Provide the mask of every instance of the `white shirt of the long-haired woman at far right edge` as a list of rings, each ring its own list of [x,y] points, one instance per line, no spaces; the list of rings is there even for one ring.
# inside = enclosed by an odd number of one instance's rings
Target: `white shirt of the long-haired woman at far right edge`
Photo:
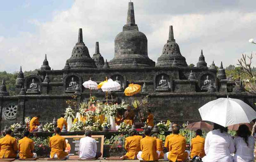
[[[234,138],[234,146],[236,153],[234,154],[234,162],[254,162],[254,137],[248,137],[248,146],[242,137]]]

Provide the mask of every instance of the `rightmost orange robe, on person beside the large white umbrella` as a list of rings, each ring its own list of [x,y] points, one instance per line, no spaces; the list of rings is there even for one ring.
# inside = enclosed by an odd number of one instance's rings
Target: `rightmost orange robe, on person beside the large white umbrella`
[[[205,139],[203,137],[200,137],[199,135],[191,140],[191,158],[193,158],[195,155],[198,155],[201,158],[205,156],[204,141]]]

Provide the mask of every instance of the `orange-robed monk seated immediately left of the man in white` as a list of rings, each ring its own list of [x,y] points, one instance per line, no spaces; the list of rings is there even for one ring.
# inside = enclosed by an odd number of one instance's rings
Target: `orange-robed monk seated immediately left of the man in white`
[[[65,152],[67,144],[64,137],[60,136],[60,128],[55,128],[55,136],[50,137],[49,146],[51,148],[50,158],[52,159],[62,159],[69,158],[67,152]]]

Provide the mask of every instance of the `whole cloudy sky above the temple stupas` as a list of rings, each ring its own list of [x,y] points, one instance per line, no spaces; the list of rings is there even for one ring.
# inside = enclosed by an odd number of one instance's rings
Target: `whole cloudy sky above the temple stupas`
[[[0,71],[41,67],[63,69],[83,29],[91,56],[99,42],[104,59],[114,57],[114,40],[126,23],[129,0],[7,0],[0,5]],[[155,62],[168,39],[169,25],[187,64],[201,49],[208,65],[236,65],[242,53],[256,53],[255,0],[132,0],[139,31]],[[256,66],[256,58],[253,66]]]

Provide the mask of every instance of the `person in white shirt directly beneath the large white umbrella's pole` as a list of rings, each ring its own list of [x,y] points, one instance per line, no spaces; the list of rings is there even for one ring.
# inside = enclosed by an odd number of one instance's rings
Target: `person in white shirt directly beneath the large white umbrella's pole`
[[[214,130],[206,136],[204,150],[203,162],[233,162],[230,154],[235,151],[234,141],[221,125],[214,123]]]

